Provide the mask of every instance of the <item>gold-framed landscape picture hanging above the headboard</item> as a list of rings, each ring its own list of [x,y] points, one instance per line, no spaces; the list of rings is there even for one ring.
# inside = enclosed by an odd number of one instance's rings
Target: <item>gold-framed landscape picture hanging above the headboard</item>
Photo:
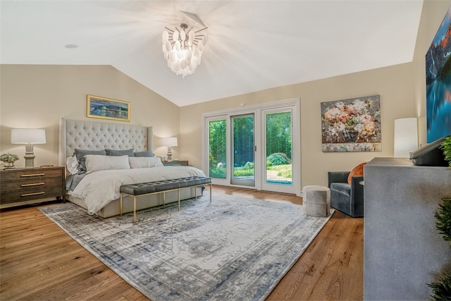
[[[87,95],[86,116],[115,121],[130,121],[130,102]]]

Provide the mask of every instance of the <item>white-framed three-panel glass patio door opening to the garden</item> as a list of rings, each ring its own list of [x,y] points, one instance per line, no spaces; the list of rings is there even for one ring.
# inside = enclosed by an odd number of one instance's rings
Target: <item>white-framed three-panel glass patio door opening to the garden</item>
[[[299,99],[204,113],[203,132],[212,183],[299,195]]]

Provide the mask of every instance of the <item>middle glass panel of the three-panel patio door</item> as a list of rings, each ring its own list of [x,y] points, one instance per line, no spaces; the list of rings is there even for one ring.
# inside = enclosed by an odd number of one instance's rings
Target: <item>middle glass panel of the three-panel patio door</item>
[[[232,116],[232,179],[235,185],[255,186],[254,114]]]

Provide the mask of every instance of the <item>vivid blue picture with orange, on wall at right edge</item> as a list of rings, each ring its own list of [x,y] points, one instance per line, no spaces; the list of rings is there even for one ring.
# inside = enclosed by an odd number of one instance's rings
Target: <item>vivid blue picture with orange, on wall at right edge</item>
[[[426,135],[451,135],[451,7],[426,53]]]

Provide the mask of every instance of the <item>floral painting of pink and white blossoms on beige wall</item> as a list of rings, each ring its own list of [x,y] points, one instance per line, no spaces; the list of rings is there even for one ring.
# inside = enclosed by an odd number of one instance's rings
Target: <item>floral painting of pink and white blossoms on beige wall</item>
[[[323,152],[380,152],[379,95],[321,102]]]

